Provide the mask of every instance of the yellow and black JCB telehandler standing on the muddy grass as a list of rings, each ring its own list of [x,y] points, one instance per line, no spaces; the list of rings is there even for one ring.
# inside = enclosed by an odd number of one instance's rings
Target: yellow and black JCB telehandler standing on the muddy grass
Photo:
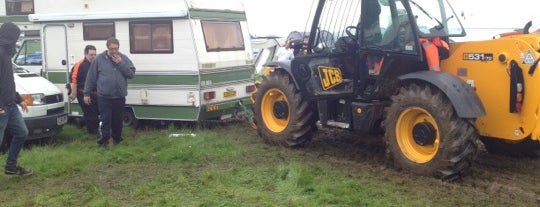
[[[451,43],[433,71],[425,40],[465,36],[447,0],[313,7],[307,44],[292,61],[266,64],[252,95],[265,142],[301,146],[317,126],[384,131],[396,169],[443,180],[468,172],[480,141],[489,152],[537,150],[540,35]]]

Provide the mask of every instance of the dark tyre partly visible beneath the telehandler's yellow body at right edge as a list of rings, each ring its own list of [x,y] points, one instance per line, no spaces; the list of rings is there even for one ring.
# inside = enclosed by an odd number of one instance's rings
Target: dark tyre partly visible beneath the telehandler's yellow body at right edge
[[[521,142],[509,142],[493,137],[481,137],[486,150],[490,154],[512,157],[540,157],[540,144],[530,139]]]

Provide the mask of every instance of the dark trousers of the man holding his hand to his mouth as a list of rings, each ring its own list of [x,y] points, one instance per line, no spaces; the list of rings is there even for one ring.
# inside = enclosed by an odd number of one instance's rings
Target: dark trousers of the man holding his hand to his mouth
[[[109,138],[119,143],[122,141],[122,127],[126,98],[97,97],[99,119],[101,121],[101,138],[98,144],[107,145]]]

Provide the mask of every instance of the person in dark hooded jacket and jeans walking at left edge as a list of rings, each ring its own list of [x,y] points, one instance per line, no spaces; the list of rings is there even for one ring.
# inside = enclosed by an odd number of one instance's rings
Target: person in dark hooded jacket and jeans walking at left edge
[[[5,131],[13,136],[4,169],[6,175],[32,174],[32,170],[17,165],[19,152],[26,136],[28,136],[28,129],[17,104],[26,112],[28,112],[28,107],[15,91],[11,63],[11,57],[16,53],[15,44],[20,34],[21,30],[13,23],[4,23],[0,26],[0,143],[4,138]]]

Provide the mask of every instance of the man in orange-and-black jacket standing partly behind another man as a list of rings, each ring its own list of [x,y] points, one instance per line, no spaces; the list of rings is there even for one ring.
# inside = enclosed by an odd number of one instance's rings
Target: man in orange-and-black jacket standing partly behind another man
[[[84,59],[79,60],[71,69],[71,94],[69,99],[71,101],[77,99],[81,109],[83,111],[84,122],[86,123],[86,129],[90,134],[97,134],[99,127],[99,111],[97,101],[86,104],[84,102],[84,83],[86,82],[86,75],[90,64],[96,59],[96,47],[93,45],[86,45],[84,48]],[[96,92],[93,91],[90,96],[96,100]]]

